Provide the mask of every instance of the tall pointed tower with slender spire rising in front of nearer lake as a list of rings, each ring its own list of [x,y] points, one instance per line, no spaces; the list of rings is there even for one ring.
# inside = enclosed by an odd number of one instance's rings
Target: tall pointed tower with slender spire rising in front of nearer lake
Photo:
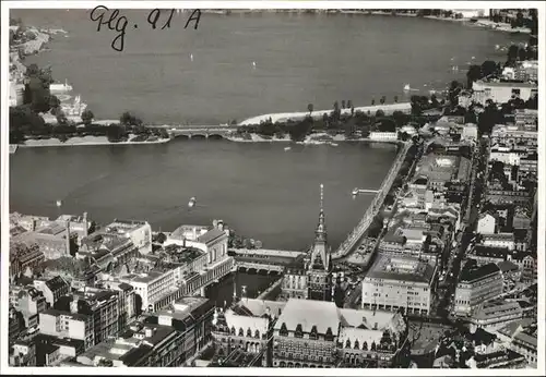
[[[324,185],[320,185],[319,223],[314,231],[314,242],[310,250],[307,266],[308,297],[310,300],[332,301],[332,256],[328,245],[324,217]]]

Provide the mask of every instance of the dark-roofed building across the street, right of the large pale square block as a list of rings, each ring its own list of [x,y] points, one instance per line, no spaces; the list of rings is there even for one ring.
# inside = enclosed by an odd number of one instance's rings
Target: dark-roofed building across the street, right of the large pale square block
[[[455,289],[454,313],[470,316],[484,302],[502,294],[502,273],[496,264],[476,266],[467,263]]]

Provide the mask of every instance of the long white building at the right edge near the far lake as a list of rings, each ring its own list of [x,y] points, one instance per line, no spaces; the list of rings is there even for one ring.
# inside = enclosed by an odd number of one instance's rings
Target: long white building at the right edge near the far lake
[[[492,81],[474,82],[472,89],[474,90],[474,100],[483,106],[487,105],[489,99],[497,104],[506,104],[514,97],[526,101],[538,92],[536,83]]]

